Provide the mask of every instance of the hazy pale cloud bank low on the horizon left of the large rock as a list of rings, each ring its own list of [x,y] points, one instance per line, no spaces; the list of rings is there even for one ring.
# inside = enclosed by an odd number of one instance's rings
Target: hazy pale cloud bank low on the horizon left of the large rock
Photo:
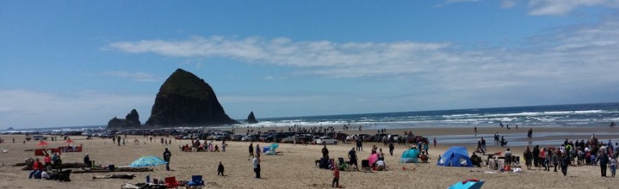
[[[144,122],[155,97],[110,95],[101,92],[54,94],[30,90],[0,90],[0,128],[105,125],[133,108]]]

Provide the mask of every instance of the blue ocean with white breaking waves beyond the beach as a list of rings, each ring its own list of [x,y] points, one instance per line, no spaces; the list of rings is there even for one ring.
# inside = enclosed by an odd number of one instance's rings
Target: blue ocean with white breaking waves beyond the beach
[[[241,121],[241,120],[239,120]],[[476,108],[420,112],[391,112],[375,114],[343,114],[330,116],[300,116],[258,118],[260,123],[235,127],[269,126],[375,126],[373,129],[409,127],[596,127],[619,122],[619,103],[589,103],[572,105],[539,105],[508,108]],[[242,122],[242,121],[241,121]],[[105,125],[16,129],[15,131],[70,131],[103,129]],[[226,126],[230,127],[230,126]],[[336,127],[341,129],[341,127]]]

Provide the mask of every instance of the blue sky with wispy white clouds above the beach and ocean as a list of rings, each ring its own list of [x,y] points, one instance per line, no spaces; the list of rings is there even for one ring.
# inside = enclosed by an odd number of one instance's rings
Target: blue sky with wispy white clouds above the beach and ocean
[[[0,1],[0,129],[106,125],[183,68],[237,119],[619,101],[619,1]]]

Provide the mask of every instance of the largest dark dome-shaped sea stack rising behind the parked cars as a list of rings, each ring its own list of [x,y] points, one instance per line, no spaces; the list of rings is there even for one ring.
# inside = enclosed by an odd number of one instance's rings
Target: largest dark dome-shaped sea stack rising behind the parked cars
[[[177,69],[161,86],[146,125],[184,127],[237,124],[221,107],[213,88],[199,77]]]

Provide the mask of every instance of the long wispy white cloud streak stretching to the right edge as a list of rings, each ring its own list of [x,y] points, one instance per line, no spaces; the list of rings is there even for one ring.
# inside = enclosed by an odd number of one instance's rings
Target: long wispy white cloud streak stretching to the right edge
[[[558,29],[520,48],[469,49],[447,42],[331,42],[195,36],[113,42],[128,53],[232,58],[299,67],[293,75],[393,77],[433,88],[518,88],[619,81],[619,21]],[[545,40],[545,42],[544,42]],[[583,77],[576,77],[583,76]],[[585,77],[586,76],[586,77]]]

